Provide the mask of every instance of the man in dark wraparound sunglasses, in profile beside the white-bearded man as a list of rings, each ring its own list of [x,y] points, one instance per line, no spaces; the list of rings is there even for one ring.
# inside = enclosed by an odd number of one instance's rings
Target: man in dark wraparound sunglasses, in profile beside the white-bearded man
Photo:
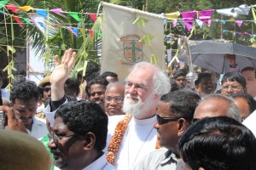
[[[189,127],[200,99],[198,94],[189,89],[174,91],[160,98],[154,128],[157,129],[160,145],[165,148],[144,156],[132,169],[176,168],[180,158],[177,151],[178,139]]]

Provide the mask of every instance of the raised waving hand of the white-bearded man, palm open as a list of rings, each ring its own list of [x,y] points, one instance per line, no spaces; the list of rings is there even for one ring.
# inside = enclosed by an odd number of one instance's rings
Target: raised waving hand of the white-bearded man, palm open
[[[51,73],[49,79],[51,83],[52,101],[57,101],[63,98],[65,94],[64,84],[73,68],[75,59],[76,53],[72,51],[72,48],[65,51],[61,63],[59,56],[55,55],[55,69]]]

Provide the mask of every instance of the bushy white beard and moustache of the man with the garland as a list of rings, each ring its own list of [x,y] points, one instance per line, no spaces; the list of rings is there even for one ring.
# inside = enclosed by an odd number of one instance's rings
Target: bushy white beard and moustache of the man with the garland
[[[138,96],[136,99],[138,99],[137,102],[134,102],[128,98],[131,98],[131,94],[126,94],[124,99],[124,105],[123,105],[123,111],[127,115],[131,116],[144,116],[147,115],[148,111],[151,110],[151,106],[154,102],[154,94],[150,94],[144,101]],[[135,97],[132,97],[133,99]]]

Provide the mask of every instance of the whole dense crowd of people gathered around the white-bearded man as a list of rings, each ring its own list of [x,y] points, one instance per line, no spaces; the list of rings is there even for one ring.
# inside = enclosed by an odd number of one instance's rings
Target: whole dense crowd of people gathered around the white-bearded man
[[[75,59],[70,48],[38,85],[17,76],[1,90],[1,169],[16,168],[14,160],[45,170],[256,169],[255,68],[221,78],[201,69],[191,89],[186,68],[168,77],[148,62],[124,83],[93,63],[70,78]]]

